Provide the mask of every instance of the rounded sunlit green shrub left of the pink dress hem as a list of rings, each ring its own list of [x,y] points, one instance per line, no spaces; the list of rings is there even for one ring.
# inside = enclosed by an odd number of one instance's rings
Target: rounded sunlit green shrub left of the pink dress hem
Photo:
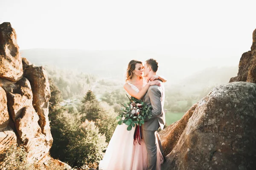
[[[94,122],[88,120],[70,134],[69,139],[66,151],[68,162],[78,167],[84,164],[98,164],[103,157],[102,150],[107,146],[105,136],[99,133],[99,128]]]

